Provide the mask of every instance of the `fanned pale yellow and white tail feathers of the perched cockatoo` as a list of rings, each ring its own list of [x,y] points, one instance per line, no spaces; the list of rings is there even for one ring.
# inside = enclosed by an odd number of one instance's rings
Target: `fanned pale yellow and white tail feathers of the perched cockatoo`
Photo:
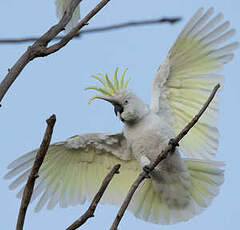
[[[184,202],[179,204],[177,199],[174,204],[163,199],[162,191],[156,191],[152,180],[146,180],[136,191],[129,206],[130,211],[136,217],[156,224],[187,221],[204,211],[219,193],[219,187],[224,181],[224,171],[221,169],[224,163],[185,159],[184,164],[190,175],[190,186],[184,186],[185,178],[170,186],[165,184],[164,189],[168,189],[171,198],[174,199],[179,194],[179,188],[185,188],[189,194],[185,205]]]

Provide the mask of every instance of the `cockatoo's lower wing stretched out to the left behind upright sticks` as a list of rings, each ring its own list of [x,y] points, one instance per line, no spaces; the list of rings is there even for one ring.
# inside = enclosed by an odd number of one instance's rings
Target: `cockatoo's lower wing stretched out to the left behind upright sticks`
[[[8,168],[6,179],[14,179],[9,185],[15,189],[25,185],[37,150],[27,153]],[[121,204],[131,183],[140,172],[138,163],[131,159],[126,140],[119,134],[85,134],[52,144],[39,171],[32,201],[40,197],[35,211],[44,205],[48,209],[57,204],[61,207],[91,200],[100,188],[101,182],[111,168],[121,164],[121,173],[111,181],[102,202]],[[21,197],[24,186],[17,194]]]

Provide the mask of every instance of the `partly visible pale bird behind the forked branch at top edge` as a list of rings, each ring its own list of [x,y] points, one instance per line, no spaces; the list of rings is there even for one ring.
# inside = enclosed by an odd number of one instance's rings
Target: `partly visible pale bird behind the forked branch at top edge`
[[[62,18],[64,12],[69,7],[69,4],[71,3],[71,1],[72,0],[55,0],[56,14],[59,20]],[[74,26],[76,26],[79,19],[80,19],[80,7],[78,5],[75,11],[73,12],[73,16],[70,22],[67,24],[65,28],[65,32],[66,33],[69,32]]]

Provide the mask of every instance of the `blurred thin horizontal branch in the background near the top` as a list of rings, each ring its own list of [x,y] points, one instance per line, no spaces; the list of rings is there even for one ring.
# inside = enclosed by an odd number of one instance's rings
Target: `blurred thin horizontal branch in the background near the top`
[[[161,23],[170,23],[174,24],[176,22],[179,22],[181,20],[180,17],[164,17],[160,19],[150,19],[150,20],[142,20],[142,21],[131,21],[131,22],[124,22],[124,23],[119,23],[115,25],[110,25],[110,26],[102,26],[102,27],[96,27],[96,28],[91,28],[91,29],[86,29],[82,30],[80,33],[77,33],[74,35],[73,38],[80,38],[83,34],[88,34],[88,33],[97,33],[97,32],[105,32],[105,31],[112,31],[112,30],[118,30],[118,29],[123,29],[126,27],[136,27],[136,26],[145,26],[145,25],[153,25],[153,24],[161,24]],[[53,40],[61,40],[63,39],[64,36],[57,36]],[[29,37],[29,38],[5,38],[5,39],[0,39],[0,44],[22,44],[26,42],[34,42],[39,37]]]

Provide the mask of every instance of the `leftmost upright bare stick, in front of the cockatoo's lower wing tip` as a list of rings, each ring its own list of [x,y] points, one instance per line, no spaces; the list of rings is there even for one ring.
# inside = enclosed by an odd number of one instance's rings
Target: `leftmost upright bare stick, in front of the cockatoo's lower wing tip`
[[[47,128],[42,140],[42,143],[40,145],[40,148],[37,152],[37,155],[34,160],[34,164],[31,170],[31,173],[28,177],[26,186],[24,188],[23,197],[21,201],[21,206],[19,209],[18,214],[18,220],[17,220],[17,226],[16,230],[22,230],[24,225],[24,220],[28,208],[28,204],[31,200],[31,196],[33,193],[34,183],[36,178],[38,177],[38,170],[41,167],[44,157],[46,155],[46,152],[48,150],[49,143],[51,141],[52,133],[53,133],[53,127],[56,122],[56,116],[52,115],[49,119],[46,120],[47,122]]]

